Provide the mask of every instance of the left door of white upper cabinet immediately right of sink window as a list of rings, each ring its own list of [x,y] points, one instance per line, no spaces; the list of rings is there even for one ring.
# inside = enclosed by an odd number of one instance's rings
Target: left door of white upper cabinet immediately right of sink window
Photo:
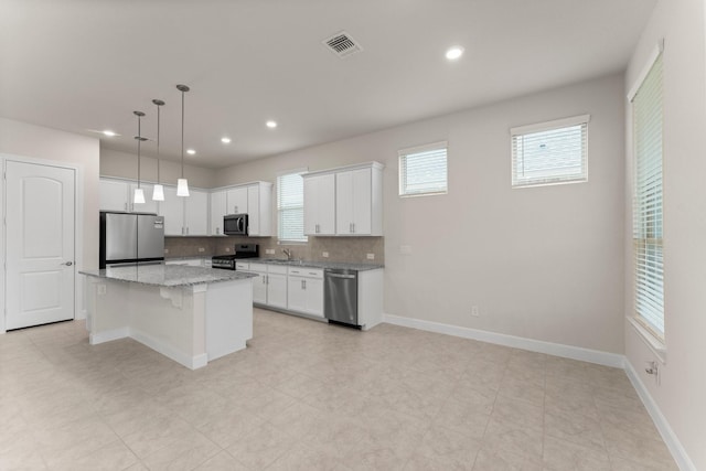
[[[335,174],[304,176],[304,234],[335,235]]]

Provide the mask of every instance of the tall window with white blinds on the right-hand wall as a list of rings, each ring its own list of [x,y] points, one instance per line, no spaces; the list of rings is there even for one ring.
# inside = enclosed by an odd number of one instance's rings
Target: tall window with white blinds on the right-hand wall
[[[635,314],[664,338],[662,255],[662,54],[632,97]]]

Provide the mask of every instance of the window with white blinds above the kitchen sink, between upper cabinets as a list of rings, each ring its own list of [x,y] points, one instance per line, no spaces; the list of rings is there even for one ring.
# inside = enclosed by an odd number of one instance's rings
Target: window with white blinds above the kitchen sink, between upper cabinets
[[[277,176],[278,238],[286,242],[307,242],[304,235],[304,170]]]

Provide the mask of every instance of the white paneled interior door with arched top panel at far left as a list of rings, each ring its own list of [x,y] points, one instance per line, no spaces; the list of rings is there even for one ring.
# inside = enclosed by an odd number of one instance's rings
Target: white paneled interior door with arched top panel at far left
[[[7,162],[6,329],[74,319],[75,171]]]

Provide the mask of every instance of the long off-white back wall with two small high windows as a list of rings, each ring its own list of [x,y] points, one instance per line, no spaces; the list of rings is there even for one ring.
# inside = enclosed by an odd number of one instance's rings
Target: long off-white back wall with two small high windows
[[[223,169],[215,184],[377,160],[386,313],[622,354],[623,103],[614,75]],[[512,190],[509,129],[581,114],[589,182]],[[440,140],[449,193],[399,199],[397,150]]]

